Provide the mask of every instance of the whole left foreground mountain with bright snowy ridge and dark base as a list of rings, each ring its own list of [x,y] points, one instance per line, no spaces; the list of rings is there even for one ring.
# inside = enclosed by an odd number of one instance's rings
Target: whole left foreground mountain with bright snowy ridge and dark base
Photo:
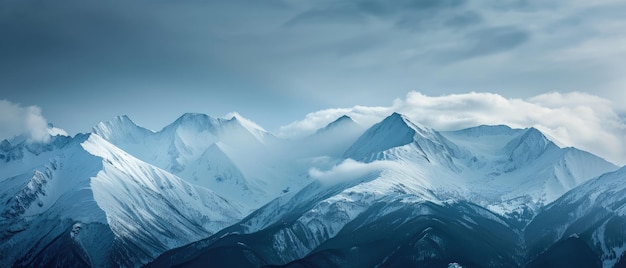
[[[6,149],[0,266],[138,266],[242,216],[95,134]]]

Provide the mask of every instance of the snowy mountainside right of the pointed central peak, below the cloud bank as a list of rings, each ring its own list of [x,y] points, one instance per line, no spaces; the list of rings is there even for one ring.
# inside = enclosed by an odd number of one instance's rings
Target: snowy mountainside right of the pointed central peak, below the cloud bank
[[[559,148],[534,128],[479,126],[442,133],[471,152],[456,160],[468,199],[527,222],[581,183],[617,167],[575,148]]]

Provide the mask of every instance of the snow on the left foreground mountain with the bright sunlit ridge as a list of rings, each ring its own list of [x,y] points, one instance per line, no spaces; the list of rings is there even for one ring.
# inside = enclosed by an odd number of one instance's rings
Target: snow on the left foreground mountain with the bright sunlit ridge
[[[77,136],[40,155],[24,151],[20,160],[32,164],[20,171],[23,174],[1,181],[0,196],[7,199],[0,201],[12,205],[2,212],[0,224],[25,228],[3,238],[0,251],[10,247],[14,250],[0,261],[1,266],[15,261],[15,254],[36,254],[47,245],[50,241],[38,241],[49,236],[38,233],[56,228],[45,227],[49,221],[74,222],[68,234],[75,239],[80,237],[80,247],[92,256],[95,265],[101,261],[97,256],[107,256],[106,252],[113,249],[89,244],[105,239],[101,232],[79,231],[93,224],[109,226],[115,239],[140,249],[128,253],[129,262],[140,264],[243,217],[235,204],[144,163],[95,134]],[[40,164],[31,167],[36,162]],[[28,224],[19,227],[20,221],[13,220],[16,218]],[[49,233],[63,232],[62,225],[59,227]],[[91,237],[94,235],[101,239]],[[90,251],[94,249],[103,252]]]

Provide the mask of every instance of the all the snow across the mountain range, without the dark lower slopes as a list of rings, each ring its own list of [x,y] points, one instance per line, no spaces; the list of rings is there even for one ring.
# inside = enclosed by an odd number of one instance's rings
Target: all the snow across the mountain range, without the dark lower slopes
[[[280,140],[236,113],[184,114],[160,131],[119,116],[99,123],[93,134],[50,133],[61,135],[49,144],[0,145],[0,156],[10,160],[0,161],[0,201],[8,204],[3,215],[31,221],[35,227],[10,227],[34,234],[41,217],[67,220],[72,238],[94,262],[102,256],[94,251],[105,250],[96,250],[94,233],[85,231],[95,223],[140,248],[134,258],[144,263],[250,214],[239,223],[244,233],[286,223],[273,234],[274,248],[302,257],[373,204],[385,206],[366,222],[400,205],[468,201],[493,212],[473,213],[507,225],[499,216],[529,221],[572,189],[568,200],[589,198],[605,207],[619,201],[609,193],[625,189],[619,176],[591,180],[616,166],[560,148],[537,129],[438,132],[397,113],[365,131],[340,117],[296,140]],[[626,207],[615,210],[624,215]],[[414,213],[429,211],[416,206]],[[461,223],[476,224],[467,216]],[[19,239],[24,236],[3,241],[4,247]],[[25,241],[23,252],[35,243]]]

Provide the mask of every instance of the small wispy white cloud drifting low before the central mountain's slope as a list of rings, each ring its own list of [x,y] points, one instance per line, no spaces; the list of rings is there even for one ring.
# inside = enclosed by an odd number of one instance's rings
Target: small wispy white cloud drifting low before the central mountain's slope
[[[309,170],[309,175],[322,183],[335,184],[360,179],[364,176],[381,172],[385,169],[394,169],[397,166],[397,163],[391,161],[362,163],[352,159],[346,159],[340,164],[332,167],[330,170],[322,171],[317,168],[312,168]]]

